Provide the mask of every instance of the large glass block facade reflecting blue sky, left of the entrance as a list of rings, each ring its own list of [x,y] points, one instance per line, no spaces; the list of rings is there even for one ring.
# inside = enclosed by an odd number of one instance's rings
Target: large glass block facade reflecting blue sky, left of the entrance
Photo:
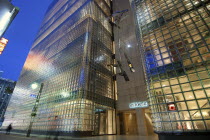
[[[110,0],[54,0],[30,50],[4,127],[26,133],[115,134],[115,81]],[[36,83],[37,88],[31,85]],[[55,119],[56,118],[56,119]]]

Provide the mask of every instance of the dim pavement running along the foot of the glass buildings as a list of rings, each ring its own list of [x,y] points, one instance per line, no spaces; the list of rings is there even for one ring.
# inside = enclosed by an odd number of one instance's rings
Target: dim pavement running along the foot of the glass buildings
[[[20,135],[5,135],[0,134],[0,140],[44,140],[44,137],[24,137]],[[155,136],[96,136],[96,137],[86,137],[86,138],[73,138],[73,137],[61,137],[59,140],[158,140]]]

